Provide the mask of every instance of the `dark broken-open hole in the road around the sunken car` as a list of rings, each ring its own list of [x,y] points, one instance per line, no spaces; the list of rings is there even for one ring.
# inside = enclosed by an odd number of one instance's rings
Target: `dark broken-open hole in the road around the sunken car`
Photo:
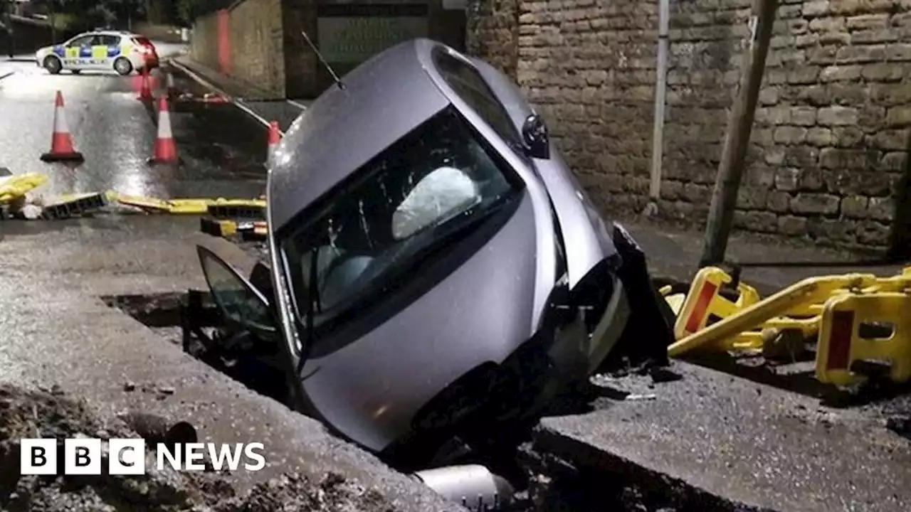
[[[262,351],[256,352],[255,342],[251,346],[251,343],[247,343],[249,340],[243,339],[242,333],[228,333],[220,326],[220,315],[210,300],[209,292],[117,295],[104,296],[101,299],[109,307],[127,313],[159,333],[166,340],[165,343],[183,345],[188,353],[200,361],[227,374],[251,390],[286,403],[284,375],[274,369],[281,366],[269,368],[268,364],[252,361],[262,359]],[[191,302],[193,305],[190,305]],[[191,324],[196,325],[205,337],[214,343],[223,345],[219,350],[213,350],[212,346],[203,346],[205,343],[199,342],[187,346],[182,327],[188,325],[189,312],[194,312],[198,316]],[[226,349],[226,346],[229,348]],[[576,390],[570,394],[584,392]],[[603,394],[601,396],[603,397]],[[578,398],[585,402],[593,399],[593,395]],[[556,408],[559,409],[559,406]],[[698,492],[694,489],[687,490],[688,487],[683,484],[670,482],[663,476],[643,476],[629,468],[618,468],[612,463],[599,465],[585,461],[584,467],[573,466],[561,462],[557,456],[549,453],[546,443],[541,444],[538,435],[529,437],[530,440],[526,440],[518,449],[509,448],[504,449],[502,453],[469,456],[451,461],[449,464],[481,463],[497,474],[506,476],[517,489],[515,501],[502,508],[509,512],[701,512],[705,509],[701,507],[705,502],[701,497],[697,497]]]

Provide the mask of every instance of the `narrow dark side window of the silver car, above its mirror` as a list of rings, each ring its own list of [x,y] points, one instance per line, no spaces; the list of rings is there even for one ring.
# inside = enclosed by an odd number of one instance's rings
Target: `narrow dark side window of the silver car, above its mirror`
[[[497,135],[522,155],[522,139],[516,125],[509,118],[506,107],[496,99],[496,95],[475,67],[441,48],[435,50],[434,61],[440,75],[446,84],[455,90],[455,94],[473,108]]]

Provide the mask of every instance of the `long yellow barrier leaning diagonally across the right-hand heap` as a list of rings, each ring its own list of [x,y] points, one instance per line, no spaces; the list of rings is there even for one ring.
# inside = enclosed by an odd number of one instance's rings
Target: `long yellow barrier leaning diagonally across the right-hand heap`
[[[763,324],[767,324],[769,321],[785,314],[793,314],[793,312],[800,312],[801,310],[808,311],[810,310],[809,306],[827,301],[835,292],[841,294],[849,290],[862,290],[875,285],[884,285],[884,283],[887,285],[891,281],[894,280],[892,278],[877,278],[874,274],[861,273],[808,278],[794,283],[762,301],[748,305],[736,314],[712,323],[695,333],[686,335],[668,347],[668,355],[672,357],[679,356],[682,353],[690,352],[712,343],[722,343],[723,340],[732,339],[748,331],[760,329]],[[703,282],[705,281],[703,280]],[[695,288],[697,283],[694,282],[693,284]],[[709,303],[711,304],[711,302]],[[708,310],[707,307],[705,309]],[[705,314],[704,316],[708,315]],[[684,315],[681,314],[680,318],[684,318]],[[678,319],[678,323],[680,322],[681,320]],[[700,323],[704,325],[701,319]],[[812,319],[807,320],[807,323],[812,323]]]

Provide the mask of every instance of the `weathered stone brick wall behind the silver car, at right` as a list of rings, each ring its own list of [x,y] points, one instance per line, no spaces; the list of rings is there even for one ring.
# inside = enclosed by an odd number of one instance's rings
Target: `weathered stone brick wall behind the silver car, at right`
[[[469,50],[509,70],[608,212],[648,201],[654,0],[485,0]],[[517,22],[510,12],[517,3]],[[750,0],[671,0],[660,214],[701,223]],[[479,19],[478,19],[479,18]],[[518,34],[515,46],[510,41]],[[781,0],[736,226],[885,245],[911,125],[911,1]]]

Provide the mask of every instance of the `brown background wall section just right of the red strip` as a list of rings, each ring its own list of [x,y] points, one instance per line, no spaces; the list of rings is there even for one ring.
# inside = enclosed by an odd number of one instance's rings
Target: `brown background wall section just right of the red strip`
[[[267,97],[285,97],[281,0],[247,0],[230,11],[231,75]]]

